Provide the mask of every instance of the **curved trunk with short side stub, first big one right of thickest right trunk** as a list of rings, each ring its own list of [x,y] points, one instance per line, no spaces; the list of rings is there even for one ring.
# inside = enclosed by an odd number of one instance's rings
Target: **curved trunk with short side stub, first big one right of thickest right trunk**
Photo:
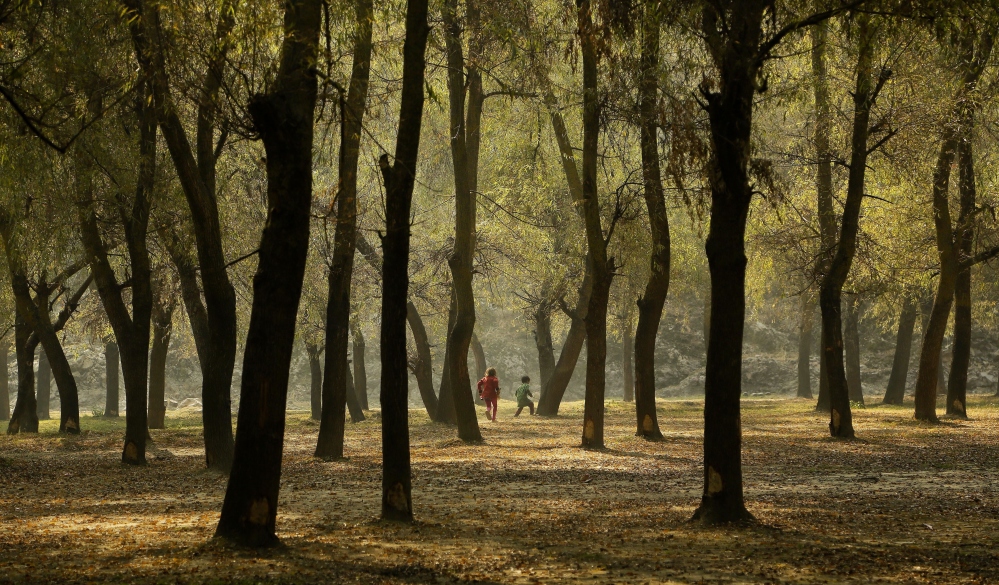
[[[822,308],[822,352],[826,359],[826,377],[829,384],[829,432],[833,437],[852,438],[853,416],[850,411],[850,393],[847,386],[843,357],[843,285],[850,275],[853,257],[857,251],[857,233],[860,229],[860,209],[864,201],[869,154],[871,108],[878,91],[887,80],[886,71],[875,86],[873,78],[874,28],[865,14],[855,19],[857,26],[856,89],[853,93],[853,133],[850,142],[850,175],[847,180],[846,202],[835,253],[822,279],[819,306]]]

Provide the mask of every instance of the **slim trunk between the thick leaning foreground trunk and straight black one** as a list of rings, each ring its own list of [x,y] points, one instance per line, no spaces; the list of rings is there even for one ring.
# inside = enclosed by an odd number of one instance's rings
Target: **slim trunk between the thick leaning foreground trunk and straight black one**
[[[368,99],[371,69],[372,0],[356,0],[354,63],[347,96],[340,96],[339,190],[336,196],[336,232],[329,272],[326,304],[326,374],[323,376],[323,420],[319,425],[316,457],[343,458],[344,410],[347,403],[347,336],[350,331],[350,282],[354,274],[354,242],[357,236],[357,160],[364,132],[364,108]],[[360,408],[351,418],[364,419]]]

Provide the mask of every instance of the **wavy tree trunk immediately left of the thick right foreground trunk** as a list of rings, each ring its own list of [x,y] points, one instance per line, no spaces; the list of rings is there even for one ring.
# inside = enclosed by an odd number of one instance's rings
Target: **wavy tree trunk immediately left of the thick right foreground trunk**
[[[637,434],[662,439],[656,415],[656,337],[669,293],[671,242],[666,196],[659,168],[659,3],[647,3],[642,21],[642,57],[639,81],[641,110],[642,178],[649,211],[652,250],[649,280],[638,300],[635,330],[635,415]],[[629,391],[630,393],[630,391]]]

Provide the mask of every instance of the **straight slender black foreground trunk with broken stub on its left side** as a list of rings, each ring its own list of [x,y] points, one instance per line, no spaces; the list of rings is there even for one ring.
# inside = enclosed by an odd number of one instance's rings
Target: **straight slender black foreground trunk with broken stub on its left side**
[[[408,0],[403,44],[402,96],[395,165],[379,161],[385,177],[385,237],[382,239],[381,404],[382,518],[413,519],[406,375],[406,306],[409,296],[409,219],[423,118],[427,0]]]

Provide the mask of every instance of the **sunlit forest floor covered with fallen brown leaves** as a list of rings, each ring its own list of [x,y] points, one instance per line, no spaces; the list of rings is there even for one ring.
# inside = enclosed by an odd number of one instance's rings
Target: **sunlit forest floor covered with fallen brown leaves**
[[[380,511],[377,413],[350,458],[312,457],[291,413],[278,535],[249,551],[211,539],[226,479],[203,469],[200,416],[154,430],[150,462],[119,463],[124,420],[55,421],[0,437],[0,582],[24,583],[999,583],[999,399],[970,421],[855,412],[826,436],[813,403],[743,401],[743,466],[758,524],[688,522],[701,493],[701,401],[660,401],[666,440],[607,405],[607,449],[585,451],[582,405],[555,419],[480,421],[486,443],[412,411],[413,525]],[[174,414],[174,413],[171,413]]]

